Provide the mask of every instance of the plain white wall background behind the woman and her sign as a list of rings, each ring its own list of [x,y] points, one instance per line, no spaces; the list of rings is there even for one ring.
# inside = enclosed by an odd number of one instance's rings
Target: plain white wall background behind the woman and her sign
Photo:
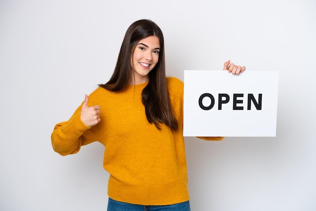
[[[278,70],[277,137],[186,138],[191,208],[316,209],[316,3],[297,1],[0,1],[0,209],[106,210],[103,147],[60,156],[50,144],[112,75],[127,27],[163,30],[168,75],[231,59]]]

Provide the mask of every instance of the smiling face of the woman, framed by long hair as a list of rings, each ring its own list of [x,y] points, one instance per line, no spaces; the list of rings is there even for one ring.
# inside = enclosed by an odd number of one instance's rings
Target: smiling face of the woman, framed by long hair
[[[159,51],[160,43],[157,36],[149,36],[138,41],[132,57],[130,84],[140,84],[148,81],[149,72],[159,60]]]

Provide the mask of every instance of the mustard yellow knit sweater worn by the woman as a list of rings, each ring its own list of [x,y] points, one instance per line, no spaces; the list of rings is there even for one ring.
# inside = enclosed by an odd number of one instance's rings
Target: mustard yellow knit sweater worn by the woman
[[[89,96],[89,106],[100,105],[101,122],[91,128],[85,126],[80,119],[81,104],[67,122],[55,126],[52,147],[67,155],[93,141],[102,143],[105,146],[103,167],[110,173],[108,195],[112,199],[143,205],[187,201],[183,82],[167,78],[173,112],[179,122],[176,132],[166,125],[158,130],[148,123],[141,101],[146,85],[130,85],[119,93],[97,88]]]

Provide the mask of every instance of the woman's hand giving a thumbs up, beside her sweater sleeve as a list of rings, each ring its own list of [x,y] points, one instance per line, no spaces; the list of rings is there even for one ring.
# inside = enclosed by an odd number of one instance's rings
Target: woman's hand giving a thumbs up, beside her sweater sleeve
[[[85,95],[84,97],[84,102],[80,112],[80,119],[86,126],[92,127],[101,121],[100,106],[93,105],[88,107],[89,97],[88,95]]]

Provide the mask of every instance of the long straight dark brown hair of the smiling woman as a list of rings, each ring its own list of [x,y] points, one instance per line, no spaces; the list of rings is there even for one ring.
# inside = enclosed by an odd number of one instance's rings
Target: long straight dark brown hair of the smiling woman
[[[149,123],[153,123],[158,129],[159,125],[164,123],[175,131],[178,129],[178,122],[173,114],[167,89],[164,35],[153,21],[138,20],[130,25],[125,33],[111,79],[99,86],[114,92],[122,91],[128,86],[132,69],[131,57],[137,42],[148,36],[159,38],[160,51],[159,60],[149,72],[149,82],[142,91],[142,103]]]

